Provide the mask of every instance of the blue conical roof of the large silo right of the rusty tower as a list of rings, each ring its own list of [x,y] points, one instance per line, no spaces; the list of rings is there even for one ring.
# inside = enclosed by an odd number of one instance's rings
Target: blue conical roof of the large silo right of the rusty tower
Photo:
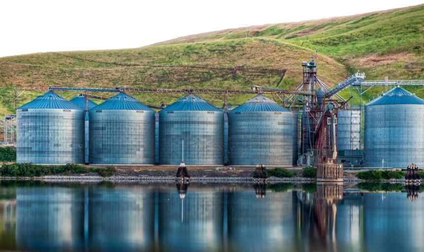
[[[369,102],[366,106],[374,105],[395,105],[395,104],[420,104],[424,105],[424,100],[417,97],[401,87],[395,87],[379,98]]]

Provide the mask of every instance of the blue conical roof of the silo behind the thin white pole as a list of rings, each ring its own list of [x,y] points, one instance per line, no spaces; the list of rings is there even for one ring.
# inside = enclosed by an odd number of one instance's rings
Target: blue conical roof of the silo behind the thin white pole
[[[212,104],[194,94],[189,94],[161,111],[221,111]]]

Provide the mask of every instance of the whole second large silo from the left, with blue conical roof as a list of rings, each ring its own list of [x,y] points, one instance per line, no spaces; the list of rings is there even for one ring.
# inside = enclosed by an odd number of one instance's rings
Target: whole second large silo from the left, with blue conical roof
[[[155,113],[119,93],[90,109],[90,164],[154,163]]]

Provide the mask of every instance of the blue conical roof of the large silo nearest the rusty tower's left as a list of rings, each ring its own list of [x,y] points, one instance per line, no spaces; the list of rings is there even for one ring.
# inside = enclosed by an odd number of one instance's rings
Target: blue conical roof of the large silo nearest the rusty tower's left
[[[246,103],[240,105],[237,108],[230,110],[229,112],[240,112],[240,111],[281,111],[290,112],[290,110],[283,108],[273,100],[263,95],[257,95]]]

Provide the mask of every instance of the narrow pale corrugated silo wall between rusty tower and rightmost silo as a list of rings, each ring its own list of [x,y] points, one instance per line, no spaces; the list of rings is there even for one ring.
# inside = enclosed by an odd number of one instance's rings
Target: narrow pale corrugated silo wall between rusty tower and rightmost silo
[[[360,130],[360,110],[339,110],[337,112],[337,150],[360,149]]]

